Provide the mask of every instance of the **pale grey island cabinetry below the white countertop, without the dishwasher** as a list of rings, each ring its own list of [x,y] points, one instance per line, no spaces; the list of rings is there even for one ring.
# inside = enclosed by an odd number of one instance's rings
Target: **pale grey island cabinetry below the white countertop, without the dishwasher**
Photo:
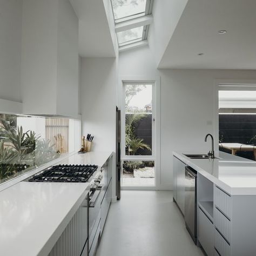
[[[206,159],[201,161],[205,163]],[[173,198],[181,211],[184,209],[184,169],[185,164],[173,156]],[[198,244],[208,256],[256,255],[256,196],[230,194],[219,183],[206,178],[200,169]]]

